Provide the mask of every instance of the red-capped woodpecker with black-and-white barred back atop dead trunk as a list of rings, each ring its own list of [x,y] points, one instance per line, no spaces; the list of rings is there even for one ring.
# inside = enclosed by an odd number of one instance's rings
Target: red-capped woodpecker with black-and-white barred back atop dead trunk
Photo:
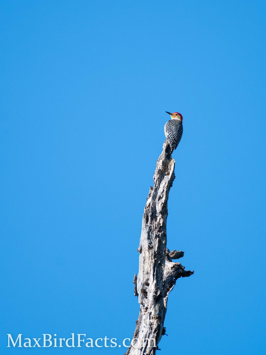
[[[169,143],[165,152],[167,157],[170,158],[174,149],[177,149],[183,134],[183,116],[179,112],[165,112],[171,116],[171,119],[164,126],[164,134]]]

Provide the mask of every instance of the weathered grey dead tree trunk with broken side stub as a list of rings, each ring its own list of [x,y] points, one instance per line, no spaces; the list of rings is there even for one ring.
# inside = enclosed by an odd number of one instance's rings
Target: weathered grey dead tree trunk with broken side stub
[[[175,160],[167,158],[166,147],[167,141],[156,164],[154,186],[150,187],[142,219],[139,274],[134,277],[134,294],[139,297],[140,314],[133,338],[139,341],[136,340],[135,347],[129,347],[126,355],[155,354],[165,334],[163,323],[169,292],[178,278],[193,274],[193,271],[185,271],[180,263],[172,262],[172,258],[178,259],[184,252],[169,252],[166,248],[167,201],[175,178]],[[151,339],[155,339],[156,343]]]

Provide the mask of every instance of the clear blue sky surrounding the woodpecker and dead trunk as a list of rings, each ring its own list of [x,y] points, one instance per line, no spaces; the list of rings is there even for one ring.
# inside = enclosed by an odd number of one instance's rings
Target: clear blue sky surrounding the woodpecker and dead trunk
[[[184,133],[158,355],[265,354],[264,1],[1,1],[0,353],[7,333],[132,337],[141,220]]]

